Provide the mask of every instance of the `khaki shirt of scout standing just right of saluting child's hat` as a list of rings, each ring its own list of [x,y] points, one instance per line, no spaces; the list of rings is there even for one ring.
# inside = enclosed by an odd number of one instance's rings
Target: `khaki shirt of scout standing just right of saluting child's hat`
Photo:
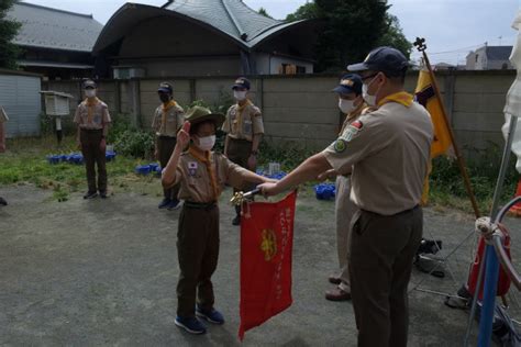
[[[251,102],[242,112],[239,112],[239,104],[232,105],[228,110],[222,130],[231,138],[253,141],[253,135],[264,134],[260,110]]]

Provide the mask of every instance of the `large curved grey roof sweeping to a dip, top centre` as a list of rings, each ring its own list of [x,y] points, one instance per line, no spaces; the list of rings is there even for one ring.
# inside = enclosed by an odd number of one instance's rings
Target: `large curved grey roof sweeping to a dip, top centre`
[[[163,8],[126,3],[103,27],[92,49],[93,54],[120,41],[137,23],[164,15],[197,23],[232,40],[245,51],[251,51],[265,40],[290,27],[308,23],[286,23],[264,16],[241,0],[176,0]]]

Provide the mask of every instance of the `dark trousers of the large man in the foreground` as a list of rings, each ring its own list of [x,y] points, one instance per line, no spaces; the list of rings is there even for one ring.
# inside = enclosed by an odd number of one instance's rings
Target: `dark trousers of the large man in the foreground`
[[[358,210],[353,216],[350,271],[358,346],[407,346],[407,289],[422,228],[420,206],[390,216]]]

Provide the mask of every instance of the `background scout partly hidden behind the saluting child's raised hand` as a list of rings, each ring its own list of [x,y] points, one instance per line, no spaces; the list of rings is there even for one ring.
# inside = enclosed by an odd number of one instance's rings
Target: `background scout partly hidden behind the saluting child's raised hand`
[[[174,89],[170,83],[163,82],[157,90],[162,104],[154,113],[152,130],[156,134],[155,157],[159,159],[160,167],[164,168],[170,159],[176,147],[176,135],[182,124],[185,111],[174,101]],[[173,188],[163,189],[163,201],[159,209],[175,210],[179,208],[179,184]]]

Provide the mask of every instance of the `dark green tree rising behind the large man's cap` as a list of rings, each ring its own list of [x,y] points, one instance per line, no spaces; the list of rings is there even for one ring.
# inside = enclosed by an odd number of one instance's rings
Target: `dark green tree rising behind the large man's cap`
[[[379,45],[393,46],[409,56],[398,18],[387,13],[386,0],[314,0],[301,5],[287,21],[320,20],[315,45],[317,71],[337,71],[363,60]]]

